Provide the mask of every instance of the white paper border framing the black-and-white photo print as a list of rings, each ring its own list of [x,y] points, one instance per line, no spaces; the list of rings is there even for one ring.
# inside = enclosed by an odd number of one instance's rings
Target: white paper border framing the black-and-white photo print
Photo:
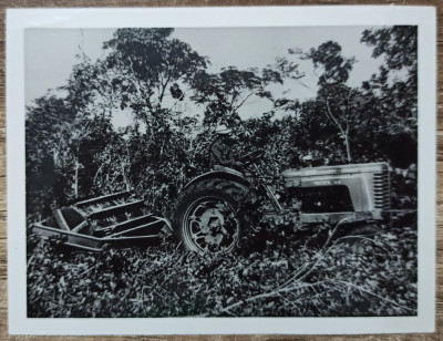
[[[416,317],[27,318],[24,30],[32,28],[419,27],[419,302]],[[361,334],[435,328],[436,20],[433,7],[11,9],[7,11],[8,288],[11,334]]]

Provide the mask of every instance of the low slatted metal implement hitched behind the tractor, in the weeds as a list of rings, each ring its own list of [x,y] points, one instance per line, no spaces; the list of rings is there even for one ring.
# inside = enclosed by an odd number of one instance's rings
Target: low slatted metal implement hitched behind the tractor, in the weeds
[[[43,238],[62,236],[69,246],[99,251],[105,245],[158,245],[171,224],[147,214],[143,199],[122,192],[55,209],[33,230]]]

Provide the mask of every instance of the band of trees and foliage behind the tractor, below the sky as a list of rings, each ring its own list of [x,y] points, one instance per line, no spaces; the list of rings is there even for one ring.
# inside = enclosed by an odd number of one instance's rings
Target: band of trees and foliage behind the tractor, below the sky
[[[357,59],[334,41],[308,51],[288,42],[287,54],[266,68],[214,72],[209,58],[173,32],[117,29],[103,43],[102,58],[92,61],[81,52],[68,82],[27,107],[29,221],[53,206],[130,189],[167,216],[183,185],[208,169],[217,124],[234,130],[238,154],[262,149],[261,166],[270,175],[302,167],[306,155],[316,166],[389,162],[399,174],[394,206],[415,205],[416,27],[362,33],[360,43],[382,62],[358,86],[348,82]],[[301,62],[311,69],[301,70]],[[275,91],[302,82],[307,72],[317,76],[310,99]],[[266,110],[241,117],[241,107],[258,99]],[[115,127],[119,114],[130,115],[131,124]]]

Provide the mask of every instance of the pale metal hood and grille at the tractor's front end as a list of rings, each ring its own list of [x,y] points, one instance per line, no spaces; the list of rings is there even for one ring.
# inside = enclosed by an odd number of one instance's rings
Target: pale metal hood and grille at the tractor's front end
[[[287,169],[281,176],[288,190],[298,193],[301,200],[305,198],[301,223],[338,221],[348,216],[382,220],[389,214],[390,176],[387,163]],[[309,197],[317,203],[309,203]],[[327,200],[332,204],[323,205]]]

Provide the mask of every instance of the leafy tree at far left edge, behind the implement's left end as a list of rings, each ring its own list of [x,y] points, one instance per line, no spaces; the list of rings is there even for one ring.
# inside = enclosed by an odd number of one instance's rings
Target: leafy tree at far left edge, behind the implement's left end
[[[68,83],[27,107],[28,213],[50,214],[51,205],[91,195],[94,155],[107,143],[111,110],[102,63],[85,56]]]

